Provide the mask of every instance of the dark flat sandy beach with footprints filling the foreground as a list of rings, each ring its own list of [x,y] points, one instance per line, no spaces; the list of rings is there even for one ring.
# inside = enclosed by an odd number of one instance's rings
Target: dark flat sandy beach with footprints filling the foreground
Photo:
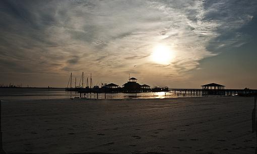
[[[2,102],[4,149],[31,153],[254,153],[254,98]]]

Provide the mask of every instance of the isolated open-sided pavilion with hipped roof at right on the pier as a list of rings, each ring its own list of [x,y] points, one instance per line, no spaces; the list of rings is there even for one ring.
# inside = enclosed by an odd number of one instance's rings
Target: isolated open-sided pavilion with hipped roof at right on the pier
[[[225,86],[219,84],[207,84],[202,86],[203,95],[225,95]]]

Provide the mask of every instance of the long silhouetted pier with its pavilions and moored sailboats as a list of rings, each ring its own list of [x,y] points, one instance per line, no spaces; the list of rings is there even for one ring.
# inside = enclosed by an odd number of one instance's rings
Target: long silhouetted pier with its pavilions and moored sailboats
[[[110,84],[102,84],[102,87],[94,86],[92,87],[92,76],[90,74],[90,87],[88,86],[88,79],[87,79],[87,86],[84,88],[84,72],[82,72],[81,81],[82,81],[82,87],[76,86],[76,80],[75,80],[75,88],[72,86],[72,73],[70,75],[70,79],[66,88],[66,91],[75,91],[80,93],[80,97],[85,97],[87,93],[94,93],[97,94],[104,94],[104,98],[106,98],[105,94],[108,93],[156,93],[156,92],[165,92],[166,93],[172,93],[177,96],[179,95],[190,95],[190,96],[249,96],[251,94],[257,94],[257,90],[252,89],[225,89],[225,86],[211,83],[207,85],[201,86],[201,89],[169,89],[168,87],[154,87],[150,88],[149,85],[140,85],[137,83],[136,78],[129,78],[129,81],[122,85],[122,87],[119,87],[116,84],[110,83]],[[75,78],[76,79],[76,78]],[[81,83],[81,82],[80,82]],[[70,87],[69,87],[70,86]],[[69,87],[69,88],[68,88]]]

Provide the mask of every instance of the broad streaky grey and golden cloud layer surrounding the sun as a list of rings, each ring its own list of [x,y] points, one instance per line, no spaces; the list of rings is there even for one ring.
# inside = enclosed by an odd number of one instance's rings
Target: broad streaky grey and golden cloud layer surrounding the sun
[[[252,20],[256,9],[255,1],[1,3],[1,65],[6,59],[37,73],[87,69],[124,75],[136,64],[133,71],[142,78],[147,73],[183,75],[221,48],[244,44],[247,36],[236,30]],[[169,65],[149,58],[160,43],[176,55]],[[14,67],[0,68],[16,71]]]

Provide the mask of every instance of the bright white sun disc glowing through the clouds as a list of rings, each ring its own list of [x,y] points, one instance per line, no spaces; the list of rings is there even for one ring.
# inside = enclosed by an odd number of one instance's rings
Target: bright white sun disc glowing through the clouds
[[[159,64],[169,64],[174,55],[173,51],[166,45],[157,45],[153,48],[151,60]]]

